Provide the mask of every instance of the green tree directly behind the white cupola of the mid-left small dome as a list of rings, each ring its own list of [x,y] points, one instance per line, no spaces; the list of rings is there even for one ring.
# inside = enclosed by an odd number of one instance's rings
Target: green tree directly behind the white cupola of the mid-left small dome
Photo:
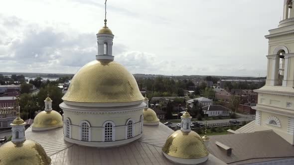
[[[62,102],[63,93],[61,89],[56,85],[48,85],[46,87],[40,88],[39,93],[37,94],[38,97],[38,105],[41,109],[44,109],[44,100],[49,93],[50,98],[52,99],[52,109],[56,111],[60,111],[61,108],[59,104]]]

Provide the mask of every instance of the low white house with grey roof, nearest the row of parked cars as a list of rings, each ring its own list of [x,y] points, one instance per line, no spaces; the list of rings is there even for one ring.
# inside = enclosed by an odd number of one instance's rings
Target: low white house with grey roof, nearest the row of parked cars
[[[206,105],[202,107],[204,114],[208,117],[211,116],[230,116],[230,109],[221,105]]]

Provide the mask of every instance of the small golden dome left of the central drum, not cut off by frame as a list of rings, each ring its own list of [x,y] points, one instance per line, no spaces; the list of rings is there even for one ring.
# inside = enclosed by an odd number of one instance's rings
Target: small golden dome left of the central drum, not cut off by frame
[[[34,118],[32,128],[50,128],[50,127],[62,127],[62,116],[52,111],[41,111]]]

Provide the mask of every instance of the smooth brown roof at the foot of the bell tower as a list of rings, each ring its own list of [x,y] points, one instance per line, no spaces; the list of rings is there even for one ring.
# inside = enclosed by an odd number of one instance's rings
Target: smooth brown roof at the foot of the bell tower
[[[208,151],[230,165],[294,158],[294,146],[274,131],[210,136]],[[232,148],[231,156],[215,143]]]

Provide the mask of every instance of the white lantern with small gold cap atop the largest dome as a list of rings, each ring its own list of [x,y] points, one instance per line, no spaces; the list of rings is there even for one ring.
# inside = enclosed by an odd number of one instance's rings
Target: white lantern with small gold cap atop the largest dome
[[[107,19],[104,19],[104,27],[96,34],[98,43],[98,55],[96,60],[114,60],[112,56],[112,45],[114,35],[106,25]]]

